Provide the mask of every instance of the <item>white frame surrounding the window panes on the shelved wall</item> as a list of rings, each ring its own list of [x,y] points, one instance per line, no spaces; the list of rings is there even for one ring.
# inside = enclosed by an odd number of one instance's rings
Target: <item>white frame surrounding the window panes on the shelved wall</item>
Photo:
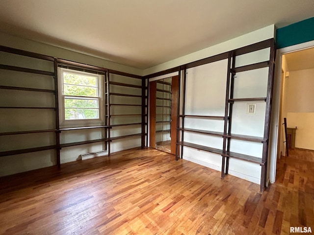
[[[99,108],[99,118],[94,119],[65,119],[65,105],[64,100],[67,95],[63,92],[63,72],[75,73],[80,75],[92,75],[96,76],[98,80],[98,108]],[[58,68],[58,99],[59,99],[59,125],[60,127],[73,127],[73,126],[89,126],[89,125],[101,125],[104,123],[104,75],[83,72],[71,69]]]

